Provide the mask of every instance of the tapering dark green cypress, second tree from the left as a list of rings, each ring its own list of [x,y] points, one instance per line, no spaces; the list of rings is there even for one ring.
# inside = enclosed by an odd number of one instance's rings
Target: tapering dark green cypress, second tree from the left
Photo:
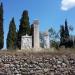
[[[9,24],[9,32],[7,35],[7,49],[16,49],[16,35],[16,25],[14,18],[12,18]]]

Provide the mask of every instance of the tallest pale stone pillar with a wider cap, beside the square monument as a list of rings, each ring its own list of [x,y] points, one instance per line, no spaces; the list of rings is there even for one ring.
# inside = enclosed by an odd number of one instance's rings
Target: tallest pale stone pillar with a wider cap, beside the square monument
[[[40,48],[39,40],[39,21],[34,20],[33,22],[33,48]]]

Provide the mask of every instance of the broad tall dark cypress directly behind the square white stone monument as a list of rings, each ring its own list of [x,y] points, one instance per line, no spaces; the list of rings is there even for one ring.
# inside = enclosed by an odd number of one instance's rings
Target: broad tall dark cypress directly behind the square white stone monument
[[[18,41],[17,41],[18,48],[21,48],[21,37],[26,34],[30,35],[30,23],[28,11],[24,10],[20,20],[20,26],[18,31]]]

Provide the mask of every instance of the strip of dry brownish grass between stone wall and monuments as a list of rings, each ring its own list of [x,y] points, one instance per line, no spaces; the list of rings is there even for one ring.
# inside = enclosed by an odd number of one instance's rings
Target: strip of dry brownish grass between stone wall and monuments
[[[63,49],[60,48],[58,50],[54,49],[53,51],[44,50],[40,52],[34,52],[34,51],[22,51],[22,50],[8,50],[8,51],[0,51],[0,55],[62,55],[62,54],[75,54],[74,48],[67,48]]]

